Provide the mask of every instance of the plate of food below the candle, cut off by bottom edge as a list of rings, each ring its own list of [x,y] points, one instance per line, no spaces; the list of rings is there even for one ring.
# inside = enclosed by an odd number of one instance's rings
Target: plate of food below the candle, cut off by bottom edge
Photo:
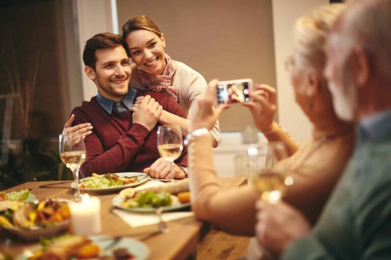
[[[17,260],[35,259],[133,259],[145,260],[150,250],[143,242],[127,237],[63,235],[40,241]]]

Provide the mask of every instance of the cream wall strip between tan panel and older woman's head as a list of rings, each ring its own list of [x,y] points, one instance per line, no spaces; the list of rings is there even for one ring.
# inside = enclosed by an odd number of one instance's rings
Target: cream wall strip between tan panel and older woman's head
[[[277,81],[278,120],[303,144],[311,134],[311,125],[294,101],[285,60],[293,50],[293,26],[298,17],[326,5],[328,0],[273,0],[273,29],[275,49],[275,71]]]

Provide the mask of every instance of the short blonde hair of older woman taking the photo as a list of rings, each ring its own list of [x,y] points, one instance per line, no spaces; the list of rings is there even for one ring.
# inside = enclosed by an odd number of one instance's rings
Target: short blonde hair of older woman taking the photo
[[[313,69],[323,79],[323,68],[326,62],[325,44],[333,23],[344,8],[345,4],[330,4],[296,21],[296,66],[304,70]]]

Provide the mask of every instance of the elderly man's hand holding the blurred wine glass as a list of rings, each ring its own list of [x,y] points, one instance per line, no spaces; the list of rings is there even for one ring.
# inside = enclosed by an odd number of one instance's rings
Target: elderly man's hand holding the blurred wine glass
[[[258,243],[278,255],[293,241],[310,233],[311,226],[301,212],[284,202],[269,204],[259,199],[256,209]]]

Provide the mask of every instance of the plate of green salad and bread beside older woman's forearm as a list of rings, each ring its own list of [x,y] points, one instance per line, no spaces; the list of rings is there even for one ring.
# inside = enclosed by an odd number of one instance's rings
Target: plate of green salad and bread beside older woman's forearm
[[[173,211],[190,206],[188,180],[176,183],[127,188],[113,198],[113,206],[134,212]]]

